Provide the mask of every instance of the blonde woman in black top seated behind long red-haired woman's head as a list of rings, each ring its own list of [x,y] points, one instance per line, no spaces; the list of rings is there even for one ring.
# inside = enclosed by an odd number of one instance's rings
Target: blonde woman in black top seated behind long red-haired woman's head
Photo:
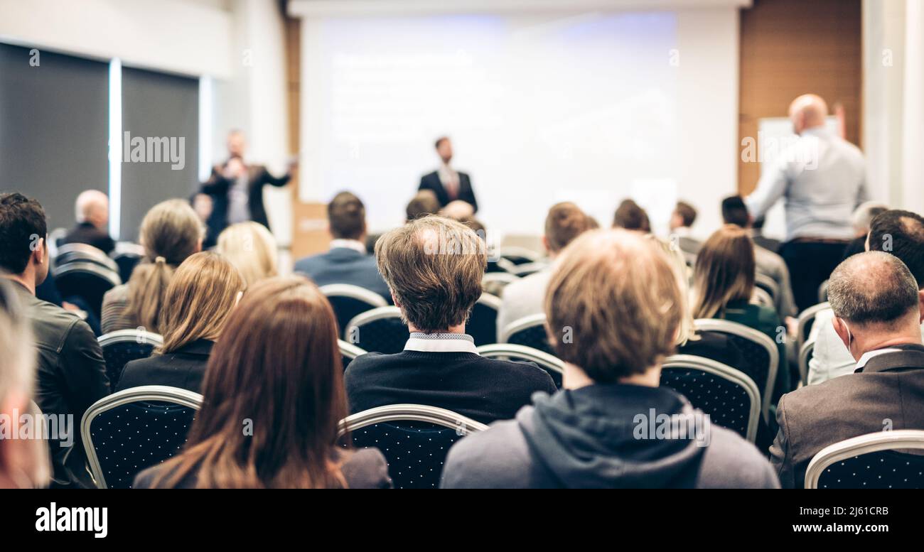
[[[196,253],[184,260],[164,294],[164,345],[149,358],[130,361],[116,390],[167,385],[200,392],[213,344],[246,286],[240,271],[217,253]]]

